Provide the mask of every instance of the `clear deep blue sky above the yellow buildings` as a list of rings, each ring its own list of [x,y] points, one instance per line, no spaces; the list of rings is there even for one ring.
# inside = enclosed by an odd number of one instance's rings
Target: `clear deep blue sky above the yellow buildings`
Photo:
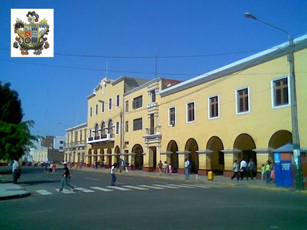
[[[10,57],[11,9],[29,6],[54,9],[53,58]],[[106,74],[153,79],[157,55],[158,77],[187,80],[287,41],[245,12],[293,38],[307,32],[306,0],[1,1],[0,11],[0,81],[18,91],[24,120],[41,136],[85,123],[86,97]],[[131,58],[140,56],[150,58]]]

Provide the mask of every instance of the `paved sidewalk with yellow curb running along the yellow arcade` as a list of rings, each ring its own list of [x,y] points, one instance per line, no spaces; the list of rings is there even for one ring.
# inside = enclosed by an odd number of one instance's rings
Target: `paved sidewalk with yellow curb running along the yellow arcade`
[[[70,169],[72,171],[74,170],[79,170],[79,171],[91,171],[91,172],[97,172],[97,173],[110,173],[110,169],[94,169],[94,168],[86,168],[82,167],[80,168],[72,168]],[[157,172],[145,172],[141,170],[134,170],[134,171],[129,171],[129,173],[126,173],[124,170],[122,170],[122,173],[119,172],[119,170],[115,173],[116,175],[128,175],[128,176],[141,176],[141,177],[151,177],[151,178],[162,178],[162,179],[173,179],[173,180],[181,180],[181,181],[187,181],[185,180],[185,174],[178,174],[178,173],[173,173],[172,175],[165,175],[162,173],[160,176],[159,173]],[[249,178],[248,180],[244,178],[243,180],[237,180],[234,178],[231,180],[229,177],[224,177],[224,176],[214,176],[212,181],[208,180],[207,176],[199,176],[199,179],[195,179],[195,174],[190,174],[190,178],[188,181],[198,181],[202,183],[212,183],[212,184],[220,184],[220,185],[225,185],[225,186],[240,186],[240,187],[249,187],[249,188],[254,188],[254,189],[265,189],[265,190],[274,190],[274,191],[286,191],[286,192],[300,192],[300,193],[305,193],[307,194],[307,190],[295,190],[294,188],[283,188],[283,187],[276,187],[274,183],[272,184],[266,184],[266,181],[261,181],[261,180],[251,180]]]

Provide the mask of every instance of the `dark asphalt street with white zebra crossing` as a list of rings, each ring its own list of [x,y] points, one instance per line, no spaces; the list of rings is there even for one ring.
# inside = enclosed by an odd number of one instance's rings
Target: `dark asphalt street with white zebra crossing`
[[[0,201],[1,229],[306,229],[305,194],[71,171],[77,191],[59,193],[61,170],[23,172],[31,196]]]

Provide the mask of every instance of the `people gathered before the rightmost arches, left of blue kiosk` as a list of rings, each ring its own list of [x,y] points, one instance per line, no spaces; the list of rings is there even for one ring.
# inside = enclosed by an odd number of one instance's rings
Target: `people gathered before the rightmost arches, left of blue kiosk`
[[[247,180],[249,177],[253,180],[254,173],[255,173],[255,163],[253,159],[250,159],[249,162],[247,162],[246,159],[243,159],[240,162],[240,165],[238,164],[238,161],[235,160],[235,162],[233,163],[233,175],[231,176],[231,180],[233,180],[235,177],[237,178],[237,180],[239,180],[239,178],[243,180],[244,176],[246,176]],[[264,174],[266,174],[267,184],[271,183],[272,181],[274,182],[275,180],[274,168],[269,160],[266,161],[266,165],[264,164],[261,165],[261,180],[263,180]]]

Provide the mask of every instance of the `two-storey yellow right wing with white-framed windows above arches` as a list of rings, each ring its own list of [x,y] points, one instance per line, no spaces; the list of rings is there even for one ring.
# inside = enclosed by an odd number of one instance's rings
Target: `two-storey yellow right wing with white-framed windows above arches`
[[[307,36],[294,40],[301,151],[307,147]],[[289,44],[210,71],[162,90],[161,151],[184,170],[232,174],[235,159],[253,159],[258,170],[272,150],[292,143]]]

